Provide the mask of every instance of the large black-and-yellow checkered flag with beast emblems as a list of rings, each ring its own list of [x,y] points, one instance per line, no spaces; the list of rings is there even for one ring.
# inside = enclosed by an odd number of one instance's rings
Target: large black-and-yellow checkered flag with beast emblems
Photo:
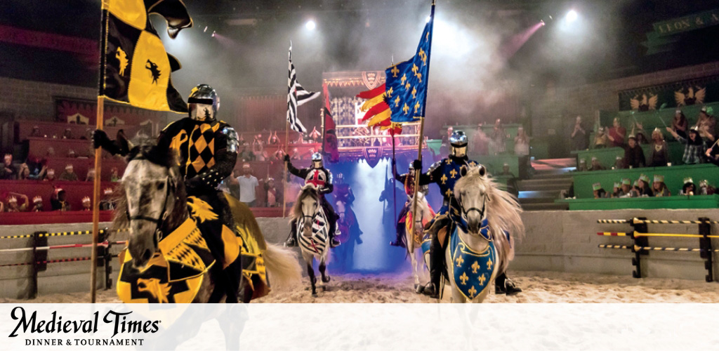
[[[172,38],[192,26],[181,0],[103,0],[100,96],[142,109],[187,112],[170,79],[180,63],[165,52],[150,14],[165,17]]]

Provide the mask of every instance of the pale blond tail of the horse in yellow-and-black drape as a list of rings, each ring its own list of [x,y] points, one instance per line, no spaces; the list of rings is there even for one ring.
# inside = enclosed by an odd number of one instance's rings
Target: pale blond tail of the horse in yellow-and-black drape
[[[267,278],[272,288],[290,290],[301,283],[302,268],[295,251],[267,242],[264,256]]]

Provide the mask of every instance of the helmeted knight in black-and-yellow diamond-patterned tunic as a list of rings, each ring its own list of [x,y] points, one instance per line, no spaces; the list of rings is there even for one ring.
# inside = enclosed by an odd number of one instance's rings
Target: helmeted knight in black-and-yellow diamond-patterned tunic
[[[224,195],[217,190],[219,183],[232,173],[237,161],[239,145],[237,132],[229,124],[216,119],[219,96],[207,84],[192,89],[188,99],[189,117],[170,123],[160,132],[157,147],[170,148],[178,153],[180,173],[185,178],[188,201],[202,204],[211,211],[196,219],[198,229],[217,263],[224,262],[223,232],[234,233],[234,220]],[[93,134],[95,147],[103,147],[112,154],[127,155],[129,150],[109,140],[101,130]],[[198,201],[199,200],[199,201]],[[204,204],[203,204],[204,203]],[[189,204],[192,206],[192,204]],[[191,211],[191,214],[197,211]],[[205,212],[206,213],[206,212]],[[227,265],[222,271],[226,286],[216,286],[211,302],[218,302],[226,294],[226,302],[237,302],[240,265]]]

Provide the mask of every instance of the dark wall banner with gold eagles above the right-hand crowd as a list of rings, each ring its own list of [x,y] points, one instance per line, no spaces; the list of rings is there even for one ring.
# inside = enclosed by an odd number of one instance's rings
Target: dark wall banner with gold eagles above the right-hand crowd
[[[620,111],[649,111],[719,101],[719,76],[619,92]]]

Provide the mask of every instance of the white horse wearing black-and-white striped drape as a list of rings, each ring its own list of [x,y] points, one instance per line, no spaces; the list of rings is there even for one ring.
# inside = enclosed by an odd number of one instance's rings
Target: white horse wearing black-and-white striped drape
[[[313,258],[319,261],[319,273],[322,275],[322,288],[329,283],[326,273],[326,262],[329,255],[329,223],[320,204],[317,189],[308,184],[302,188],[293,206],[291,221],[296,222],[297,241],[302,250],[302,257],[307,264],[307,274],[312,286],[312,296],[317,296]]]

